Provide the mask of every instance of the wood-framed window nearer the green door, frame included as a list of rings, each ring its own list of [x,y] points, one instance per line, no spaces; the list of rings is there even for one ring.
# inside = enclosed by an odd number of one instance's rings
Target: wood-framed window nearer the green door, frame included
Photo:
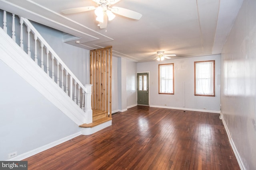
[[[158,93],[174,94],[174,64],[158,65]]]

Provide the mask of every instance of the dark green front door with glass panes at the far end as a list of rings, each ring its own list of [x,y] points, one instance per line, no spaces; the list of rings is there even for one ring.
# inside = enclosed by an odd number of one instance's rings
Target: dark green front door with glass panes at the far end
[[[148,106],[148,72],[137,73],[137,104]]]

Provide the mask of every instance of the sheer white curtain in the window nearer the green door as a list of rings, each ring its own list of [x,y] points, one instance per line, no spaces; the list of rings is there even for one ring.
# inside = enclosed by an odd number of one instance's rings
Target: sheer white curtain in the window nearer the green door
[[[160,66],[160,93],[173,93],[173,65]]]

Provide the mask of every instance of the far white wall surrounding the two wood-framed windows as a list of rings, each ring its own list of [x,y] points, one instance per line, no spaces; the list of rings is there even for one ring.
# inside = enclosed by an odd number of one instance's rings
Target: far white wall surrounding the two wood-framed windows
[[[194,96],[194,61],[215,60],[215,97]],[[158,64],[174,63],[174,95],[158,94]],[[137,63],[138,72],[150,71],[150,106],[220,112],[220,55]]]

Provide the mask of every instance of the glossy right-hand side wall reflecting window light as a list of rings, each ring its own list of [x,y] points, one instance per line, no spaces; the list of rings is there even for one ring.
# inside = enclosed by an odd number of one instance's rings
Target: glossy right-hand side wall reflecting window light
[[[244,0],[222,51],[221,112],[246,169],[256,169],[256,1]]]

